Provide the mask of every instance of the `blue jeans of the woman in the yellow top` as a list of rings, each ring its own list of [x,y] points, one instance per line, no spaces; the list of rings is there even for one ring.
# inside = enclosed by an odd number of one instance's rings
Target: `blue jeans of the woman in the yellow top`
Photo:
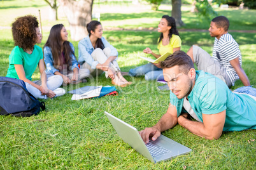
[[[152,80],[164,80],[164,76],[162,75],[162,69],[156,67],[152,63],[148,63],[146,65],[141,65],[136,67],[135,69],[129,70],[129,74],[132,76],[145,75],[146,81]]]

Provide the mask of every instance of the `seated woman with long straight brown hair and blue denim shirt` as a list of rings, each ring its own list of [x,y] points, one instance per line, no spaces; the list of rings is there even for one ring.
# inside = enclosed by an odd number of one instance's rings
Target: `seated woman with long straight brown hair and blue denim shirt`
[[[75,48],[68,41],[68,32],[64,25],[57,24],[50,30],[50,35],[43,47],[47,74],[60,75],[63,84],[87,82],[88,69],[79,69],[76,61]]]

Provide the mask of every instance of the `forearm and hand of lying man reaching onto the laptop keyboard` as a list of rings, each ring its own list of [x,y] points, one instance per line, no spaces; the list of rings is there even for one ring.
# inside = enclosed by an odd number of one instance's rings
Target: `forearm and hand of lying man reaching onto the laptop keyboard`
[[[146,128],[142,131],[139,131],[141,138],[145,143],[148,143],[149,137],[152,136],[152,140],[157,140],[162,131],[173,128],[177,124],[177,110],[174,105],[169,103],[169,108],[167,109],[166,114],[164,114],[159,122],[155,124],[152,128]]]

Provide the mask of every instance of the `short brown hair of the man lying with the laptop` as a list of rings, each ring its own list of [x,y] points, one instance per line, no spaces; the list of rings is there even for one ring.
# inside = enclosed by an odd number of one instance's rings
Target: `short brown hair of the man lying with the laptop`
[[[161,62],[160,65],[162,69],[178,65],[180,72],[183,72],[184,74],[188,74],[191,68],[195,68],[192,59],[184,51],[175,51],[172,55],[169,55],[166,60]]]

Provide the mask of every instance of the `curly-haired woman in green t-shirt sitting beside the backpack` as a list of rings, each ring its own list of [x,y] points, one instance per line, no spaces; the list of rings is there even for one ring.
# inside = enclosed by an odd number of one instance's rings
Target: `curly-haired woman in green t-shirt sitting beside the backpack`
[[[15,48],[9,56],[9,68],[6,77],[20,79],[25,82],[29,93],[35,98],[53,98],[66,93],[62,88],[62,77],[55,75],[46,77],[43,51],[36,44],[40,44],[42,34],[36,17],[32,15],[19,17],[13,22],[11,30]],[[41,81],[32,82],[32,74],[39,67]]]

